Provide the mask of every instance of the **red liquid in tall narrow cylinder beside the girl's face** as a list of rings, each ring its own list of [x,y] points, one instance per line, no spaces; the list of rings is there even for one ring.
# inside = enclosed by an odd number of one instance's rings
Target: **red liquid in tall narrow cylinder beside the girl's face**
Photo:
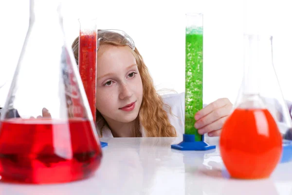
[[[79,73],[95,121],[96,93],[96,32],[79,36]]]

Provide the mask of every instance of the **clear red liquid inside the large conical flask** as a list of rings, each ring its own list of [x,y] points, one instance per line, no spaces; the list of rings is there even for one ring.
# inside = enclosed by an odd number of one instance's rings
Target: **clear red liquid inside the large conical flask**
[[[0,128],[4,182],[61,183],[90,177],[102,152],[90,121],[8,119]]]

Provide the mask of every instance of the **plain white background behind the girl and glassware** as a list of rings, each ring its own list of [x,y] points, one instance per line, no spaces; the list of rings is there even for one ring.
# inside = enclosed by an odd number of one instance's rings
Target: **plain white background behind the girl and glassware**
[[[70,44],[79,34],[78,18],[98,18],[99,29],[121,29],[135,41],[157,89],[184,91],[185,13],[204,14],[204,103],[232,102],[242,77],[242,35],[274,36],[274,66],[285,99],[292,100],[291,0],[75,0],[65,1],[64,29]],[[0,1],[0,106],[29,24],[29,0]],[[44,46],[50,37],[43,37]],[[264,74],[264,71],[263,71]]]

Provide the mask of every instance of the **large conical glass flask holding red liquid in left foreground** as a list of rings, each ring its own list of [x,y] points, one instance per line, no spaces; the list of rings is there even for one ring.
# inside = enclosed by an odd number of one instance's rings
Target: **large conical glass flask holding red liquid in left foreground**
[[[79,180],[93,175],[101,158],[60,0],[30,0],[29,29],[0,118],[1,179]]]

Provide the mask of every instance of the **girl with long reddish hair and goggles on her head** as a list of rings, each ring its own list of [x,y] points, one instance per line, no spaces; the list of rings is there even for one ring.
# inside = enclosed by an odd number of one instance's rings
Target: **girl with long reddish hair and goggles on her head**
[[[184,93],[160,96],[134,41],[120,30],[98,30],[96,125],[102,137],[177,137],[184,133]],[[72,44],[78,64],[79,38]],[[199,133],[219,136],[227,98],[194,116]]]

